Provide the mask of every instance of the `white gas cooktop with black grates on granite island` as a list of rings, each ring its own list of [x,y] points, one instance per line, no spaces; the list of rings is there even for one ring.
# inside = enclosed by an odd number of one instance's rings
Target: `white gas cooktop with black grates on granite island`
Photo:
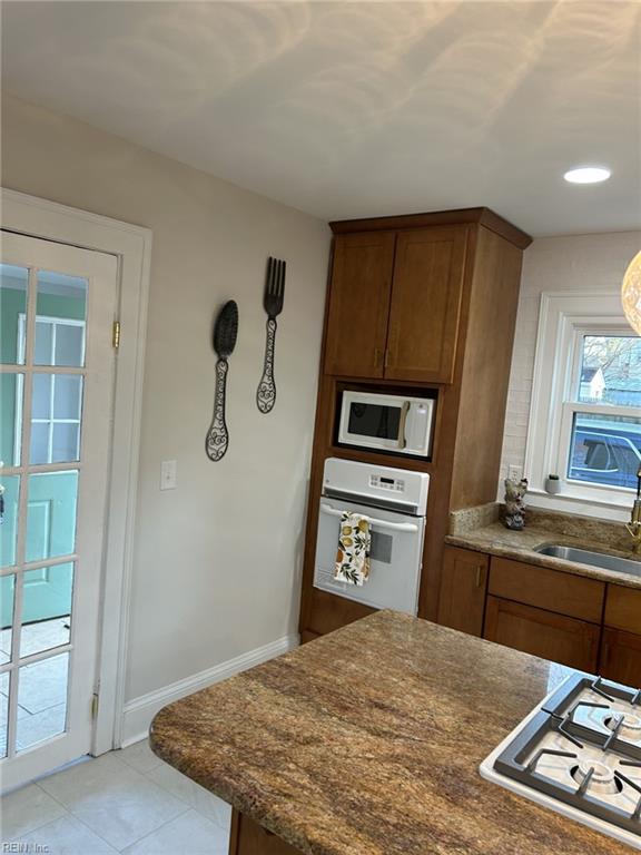
[[[573,674],[481,775],[641,849],[641,689]]]

